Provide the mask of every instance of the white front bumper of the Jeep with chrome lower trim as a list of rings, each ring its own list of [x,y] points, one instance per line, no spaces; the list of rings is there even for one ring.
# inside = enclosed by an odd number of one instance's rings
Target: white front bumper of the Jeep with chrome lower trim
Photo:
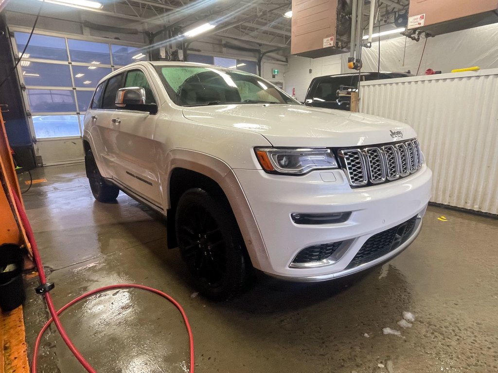
[[[342,170],[327,171],[326,175],[316,171],[301,177],[269,175],[261,170],[234,172],[264,241],[267,260],[259,261],[257,268],[270,276],[295,281],[322,281],[350,275],[399,254],[420,232],[432,180],[432,173],[425,165],[404,179],[363,188],[351,188]],[[295,224],[291,219],[292,213],[348,211],[350,218],[337,224]],[[413,216],[418,217],[417,225],[403,244],[371,262],[347,268],[370,237]],[[302,249],[338,241],[348,241],[348,247],[333,263],[305,268],[291,266]]]

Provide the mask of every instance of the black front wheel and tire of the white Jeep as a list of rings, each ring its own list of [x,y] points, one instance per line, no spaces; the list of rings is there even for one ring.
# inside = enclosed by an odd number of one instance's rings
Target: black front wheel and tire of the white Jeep
[[[180,197],[175,224],[180,253],[201,294],[213,300],[238,295],[252,267],[226,199],[189,189]]]

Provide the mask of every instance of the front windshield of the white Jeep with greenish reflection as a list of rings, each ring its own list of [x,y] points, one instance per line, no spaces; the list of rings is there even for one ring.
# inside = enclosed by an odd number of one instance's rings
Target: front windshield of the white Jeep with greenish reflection
[[[171,99],[181,106],[225,103],[299,104],[261,78],[228,69],[155,66]]]

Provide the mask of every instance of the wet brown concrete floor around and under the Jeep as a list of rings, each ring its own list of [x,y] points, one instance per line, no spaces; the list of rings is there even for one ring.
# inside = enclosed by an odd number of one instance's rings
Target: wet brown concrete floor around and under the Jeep
[[[116,204],[95,201],[83,164],[34,174],[47,182],[24,201],[56,306],[114,283],[163,290],[190,319],[196,372],[498,372],[496,219],[429,207],[418,239],[381,268],[315,284],[259,276],[248,293],[214,303],[191,296],[196,289],[177,250],[166,248],[158,214],[123,193]],[[31,353],[47,311],[28,294]],[[416,317],[411,328],[397,325],[403,311]],[[62,322],[97,372],[188,372],[181,317],[156,295],[102,293]],[[385,327],[402,336],[383,335]],[[84,372],[55,329],[43,339],[40,364],[38,372]]]

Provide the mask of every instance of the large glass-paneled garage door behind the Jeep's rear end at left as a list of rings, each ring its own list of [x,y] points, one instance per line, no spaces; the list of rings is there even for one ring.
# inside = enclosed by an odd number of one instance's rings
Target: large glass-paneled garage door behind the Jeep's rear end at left
[[[21,55],[28,37],[28,32],[14,31],[16,55]],[[145,60],[139,47],[116,40],[33,34],[18,72],[35,150],[43,165],[83,160],[83,115],[93,91],[113,70]]]

